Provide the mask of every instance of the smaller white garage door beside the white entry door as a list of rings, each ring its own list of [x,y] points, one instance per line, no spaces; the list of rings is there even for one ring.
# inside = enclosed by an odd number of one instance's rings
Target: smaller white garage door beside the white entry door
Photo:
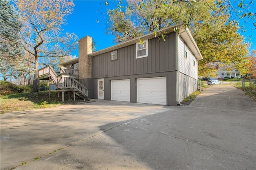
[[[111,100],[130,102],[130,79],[111,80]]]

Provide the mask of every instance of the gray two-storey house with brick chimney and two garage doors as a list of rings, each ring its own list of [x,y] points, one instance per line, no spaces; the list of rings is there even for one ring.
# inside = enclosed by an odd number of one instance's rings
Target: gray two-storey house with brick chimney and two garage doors
[[[202,55],[182,24],[156,34],[165,34],[165,41],[150,33],[96,52],[86,36],[79,40],[79,58],[61,65],[79,68],[88,98],[176,106],[196,91]]]

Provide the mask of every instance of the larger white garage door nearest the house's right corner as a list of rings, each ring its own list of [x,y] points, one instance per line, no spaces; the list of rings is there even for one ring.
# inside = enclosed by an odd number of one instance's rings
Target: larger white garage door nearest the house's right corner
[[[137,79],[137,103],[166,105],[166,95],[166,77]]]

